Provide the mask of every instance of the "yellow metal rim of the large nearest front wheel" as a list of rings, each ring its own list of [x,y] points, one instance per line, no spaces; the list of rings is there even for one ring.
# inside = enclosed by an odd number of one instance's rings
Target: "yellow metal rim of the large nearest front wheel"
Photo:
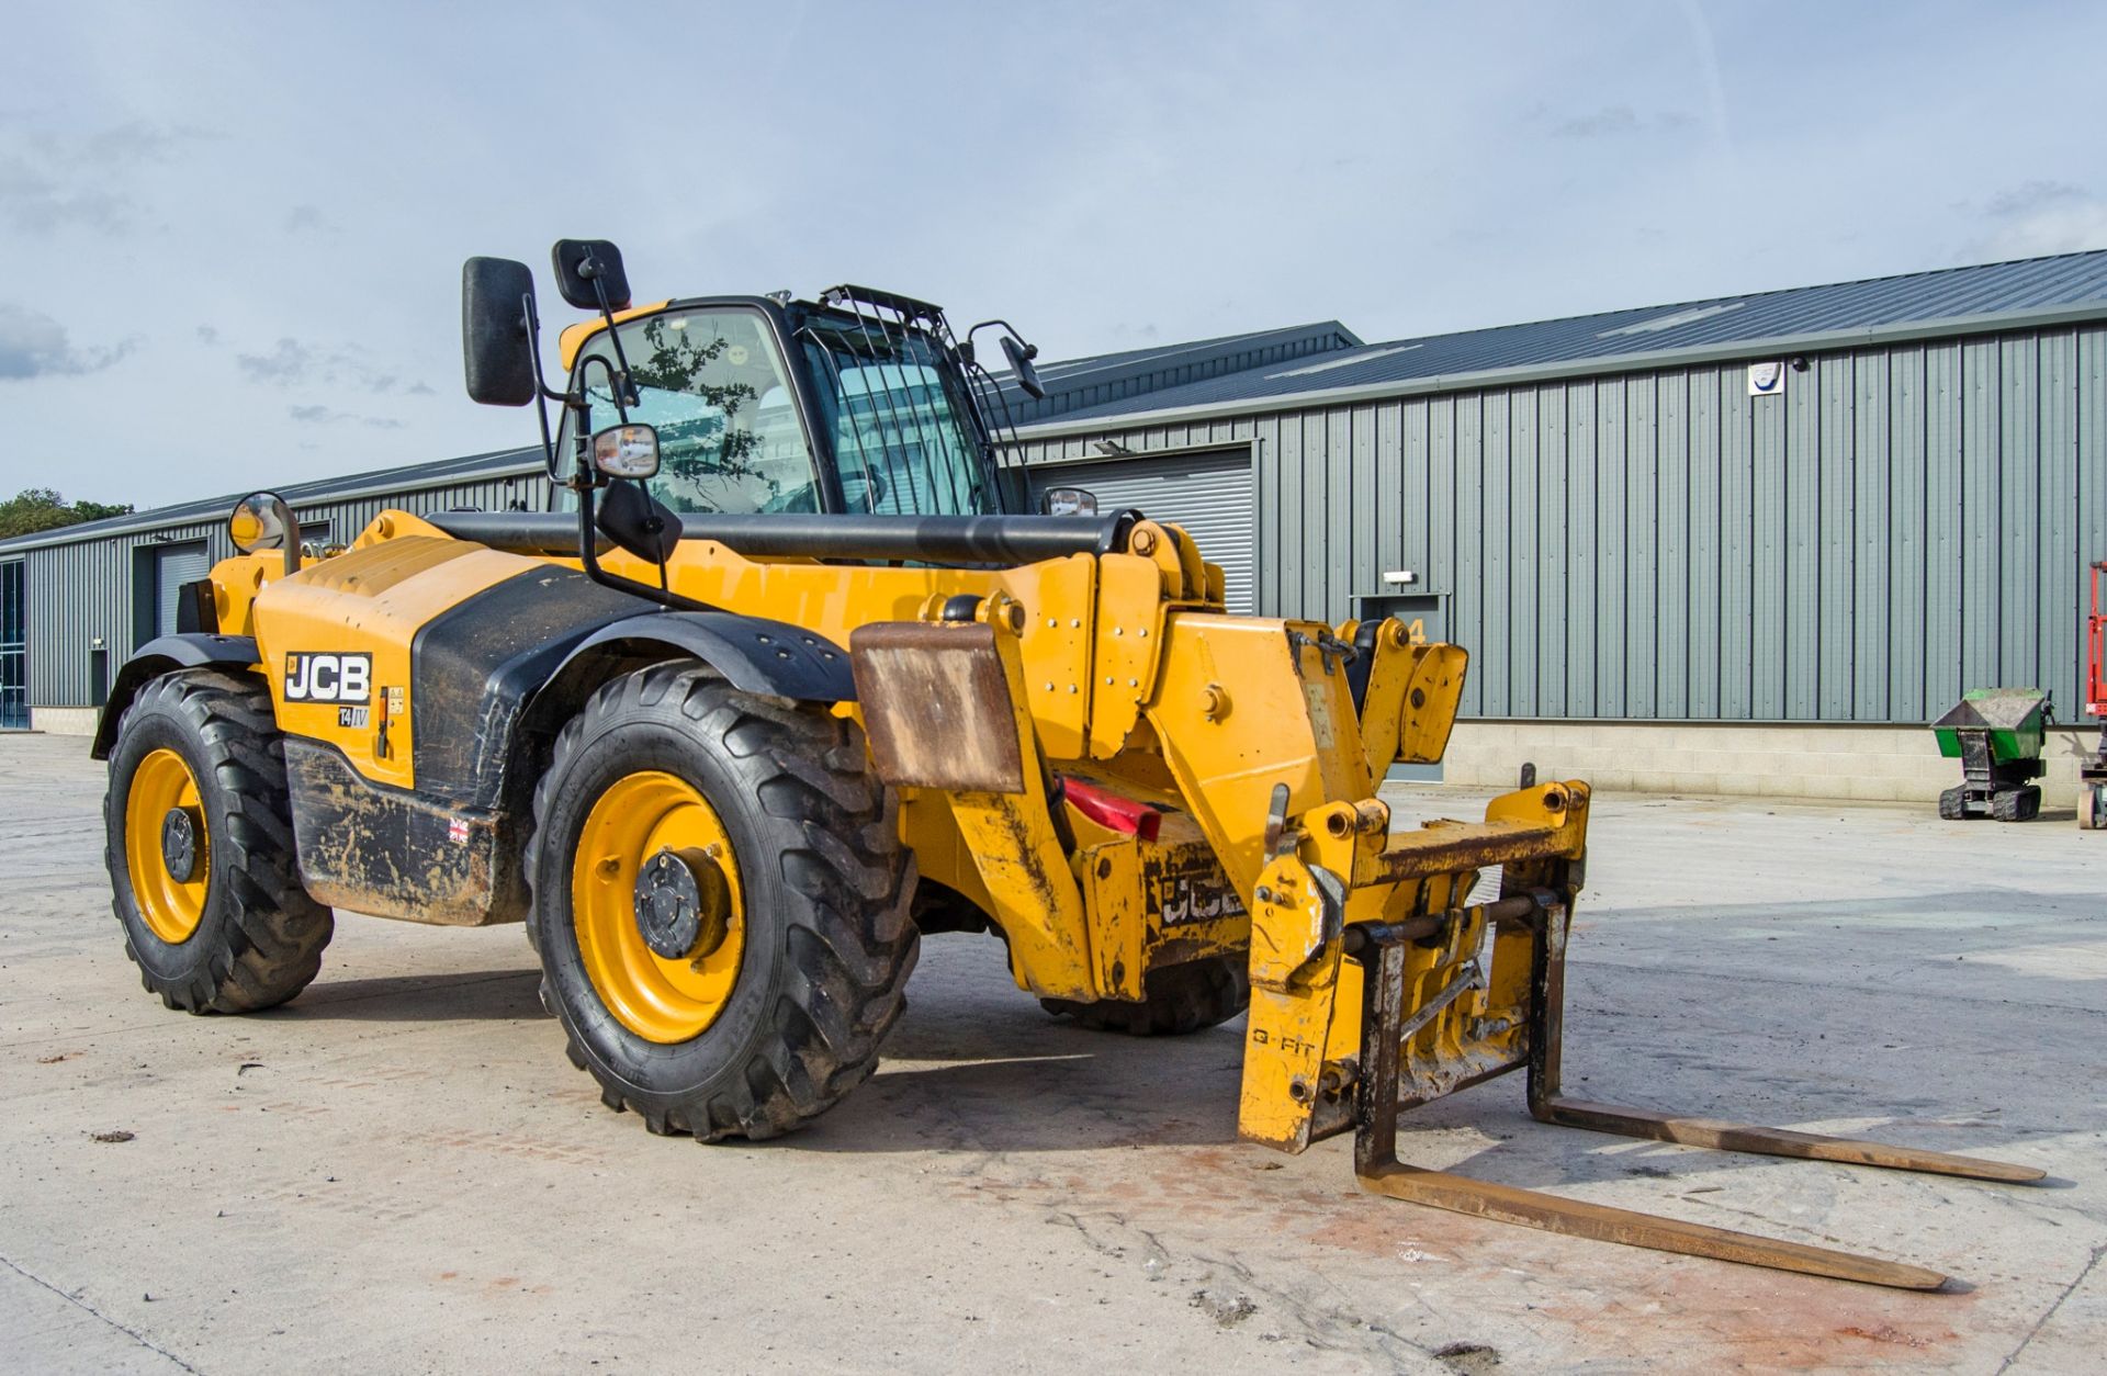
[[[725,940],[695,959],[668,959],[636,927],[636,874],[662,849],[714,864],[725,877]],[[615,1020],[645,1041],[700,1037],[731,999],[746,950],[746,902],[731,837],[687,780],[628,773],[586,813],[571,858],[571,923],[586,978]]]

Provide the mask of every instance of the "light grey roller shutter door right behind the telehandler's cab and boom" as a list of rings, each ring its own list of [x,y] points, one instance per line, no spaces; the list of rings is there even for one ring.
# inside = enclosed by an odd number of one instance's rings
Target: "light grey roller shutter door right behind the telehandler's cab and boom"
[[[1222,565],[1230,611],[1252,611],[1252,447],[1178,453],[1161,459],[1049,464],[1030,474],[1032,502],[1049,487],[1087,487],[1098,510],[1136,506],[1150,520],[1182,525],[1201,556]]]

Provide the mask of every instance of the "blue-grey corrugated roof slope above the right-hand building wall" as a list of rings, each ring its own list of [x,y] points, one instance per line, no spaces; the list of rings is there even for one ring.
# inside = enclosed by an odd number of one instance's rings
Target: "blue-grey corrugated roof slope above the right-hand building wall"
[[[1380,388],[1382,384],[1431,377],[1738,343],[1761,350],[1772,341],[1858,329],[1957,325],[2086,306],[2099,306],[2101,314],[2107,314],[2107,251],[1391,339],[1330,352],[1308,365],[1262,365],[1140,396],[1077,407],[1037,424],[1066,426],[1150,411],[1289,398],[1338,388]]]

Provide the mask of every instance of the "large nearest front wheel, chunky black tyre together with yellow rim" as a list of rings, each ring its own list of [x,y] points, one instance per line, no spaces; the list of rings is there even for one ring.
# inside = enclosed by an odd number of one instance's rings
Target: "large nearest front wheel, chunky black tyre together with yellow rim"
[[[668,866],[710,910],[672,946],[641,917]],[[906,1005],[914,864],[862,731],[700,662],[615,679],[563,729],[527,874],[571,1062],[651,1132],[790,1132],[877,1068]]]

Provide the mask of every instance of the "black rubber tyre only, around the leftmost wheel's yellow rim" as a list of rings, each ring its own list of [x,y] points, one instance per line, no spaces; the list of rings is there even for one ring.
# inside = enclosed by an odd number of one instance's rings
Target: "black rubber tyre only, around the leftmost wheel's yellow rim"
[[[156,971],[141,957],[141,942],[158,942],[126,912],[131,881],[124,862],[124,803],[118,780],[129,735],[154,716],[173,716],[179,731],[206,759],[185,763],[200,775],[200,790],[223,792],[223,815],[213,824],[213,887],[198,929],[181,946],[188,969]],[[200,769],[198,765],[204,765]],[[129,780],[129,773],[124,775]],[[112,912],[124,927],[124,955],[139,967],[139,982],[169,1007],[190,1014],[251,1014],[276,1007],[303,990],[322,969],[322,948],[335,936],[335,917],[299,883],[293,845],[293,803],[284,778],[284,744],[272,716],[270,689],[251,674],[188,668],[154,679],[124,710],[110,752],[110,790],[103,794],[103,862],[112,874]]]

